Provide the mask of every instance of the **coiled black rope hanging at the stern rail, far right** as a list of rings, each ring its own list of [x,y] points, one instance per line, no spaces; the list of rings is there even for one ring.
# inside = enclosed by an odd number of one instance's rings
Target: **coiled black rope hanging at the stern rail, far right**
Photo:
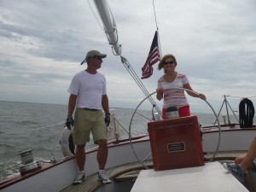
[[[253,102],[243,98],[239,104],[239,122],[241,128],[253,127],[254,107]]]

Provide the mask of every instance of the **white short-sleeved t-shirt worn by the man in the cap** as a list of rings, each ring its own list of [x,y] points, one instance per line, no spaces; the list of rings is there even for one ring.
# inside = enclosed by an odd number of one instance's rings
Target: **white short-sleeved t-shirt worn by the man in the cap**
[[[107,95],[106,79],[102,73],[77,73],[67,90],[77,96],[76,108],[102,109],[102,95]]]

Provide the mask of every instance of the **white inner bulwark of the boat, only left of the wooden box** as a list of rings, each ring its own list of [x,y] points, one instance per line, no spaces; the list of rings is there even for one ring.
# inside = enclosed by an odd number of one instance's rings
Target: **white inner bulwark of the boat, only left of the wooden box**
[[[142,142],[136,143],[135,147],[138,149],[139,154],[145,157],[149,152],[149,143]],[[145,149],[147,148],[147,149]],[[108,154],[108,163],[106,169],[119,166],[127,163],[137,162],[135,158],[130,143],[124,145],[120,144],[117,146],[110,147]],[[96,150],[92,150],[86,154],[86,175],[91,175],[98,171],[98,166],[96,162]],[[9,186],[1,189],[3,184],[0,185],[1,192],[15,192],[15,191],[37,191],[37,192],[55,192],[64,189],[68,185],[73,183],[73,178],[77,173],[76,162],[73,157],[69,157],[62,162],[57,162],[55,165],[50,166],[48,169],[43,167],[42,170],[38,172],[26,174],[23,177],[17,177],[15,180],[9,182]],[[9,178],[11,179],[11,178]],[[22,189],[22,190],[20,190]]]

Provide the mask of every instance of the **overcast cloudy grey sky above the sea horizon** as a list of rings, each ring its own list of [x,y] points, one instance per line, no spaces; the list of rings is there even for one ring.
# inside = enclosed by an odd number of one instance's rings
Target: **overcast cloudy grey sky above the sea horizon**
[[[161,54],[176,56],[177,72],[188,76],[192,89],[204,93],[216,113],[224,95],[234,110],[242,97],[256,103],[254,0],[108,4],[122,56],[139,77],[158,26]],[[68,86],[86,68],[80,62],[90,49],[108,55],[99,72],[106,76],[111,108],[137,108],[145,97],[120,57],[113,55],[91,0],[0,0],[0,26],[0,101],[67,105]],[[149,93],[162,75],[155,64],[153,75],[142,80]],[[192,112],[211,113],[206,102],[188,100]],[[162,101],[157,104],[161,108]],[[151,106],[145,102],[142,108]]]

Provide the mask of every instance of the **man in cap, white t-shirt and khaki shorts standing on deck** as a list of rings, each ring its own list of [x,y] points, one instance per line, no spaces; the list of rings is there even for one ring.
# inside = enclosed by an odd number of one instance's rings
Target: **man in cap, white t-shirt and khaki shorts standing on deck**
[[[69,129],[74,125],[73,143],[76,145],[75,156],[79,166],[73,184],[82,183],[86,179],[84,148],[85,143],[90,141],[90,131],[94,142],[99,145],[96,157],[99,165],[99,180],[102,183],[111,183],[104,171],[108,159],[107,126],[110,123],[106,79],[102,73],[97,72],[97,69],[102,67],[102,58],[106,56],[97,50],[90,50],[81,63],[82,65],[87,62],[87,68],[73,77],[67,90],[70,96],[66,125]],[[73,120],[74,108],[76,110]]]

